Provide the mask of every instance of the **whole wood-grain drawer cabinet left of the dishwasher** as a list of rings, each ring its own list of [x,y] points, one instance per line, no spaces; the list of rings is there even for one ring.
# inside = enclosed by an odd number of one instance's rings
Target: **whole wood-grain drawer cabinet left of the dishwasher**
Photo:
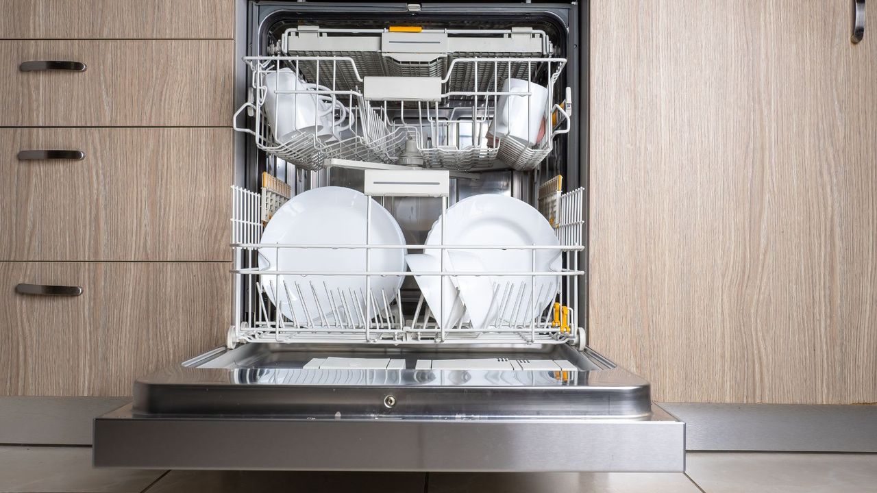
[[[0,395],[129,396],[225,341],[235,4],[0,0]]]

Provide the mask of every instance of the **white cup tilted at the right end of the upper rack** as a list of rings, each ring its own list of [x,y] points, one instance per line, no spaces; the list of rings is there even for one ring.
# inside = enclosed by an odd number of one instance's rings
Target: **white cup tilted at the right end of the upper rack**
[[[490,133],[495,137],[514,137],[530,146],[538,144],[545,135],[548,89],[522,79],[507,79],[503,82],[501,92],[524,94],[496,98],[496,113],[490,123]]]

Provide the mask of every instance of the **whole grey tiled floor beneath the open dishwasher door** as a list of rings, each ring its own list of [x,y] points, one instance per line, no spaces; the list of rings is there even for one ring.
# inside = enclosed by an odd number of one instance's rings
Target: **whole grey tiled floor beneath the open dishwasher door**
[[[89,447],[0,446],[0,491],[478,491],[724,493],[877,491],[877,454],[689,453],[685,473],[294,473],[91,467]]]

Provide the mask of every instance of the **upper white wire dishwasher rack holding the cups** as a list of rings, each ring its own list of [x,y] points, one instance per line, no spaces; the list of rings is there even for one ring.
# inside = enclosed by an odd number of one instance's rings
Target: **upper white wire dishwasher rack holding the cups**
[[[251,96],[235,113],[235,130],[251,134],[260,149],[298,168],[317,170],[324,167],[326,159],[339,158],[463,171],[503,164],[530,170],[551,154],[554,138],[570,128],[571,93],[568,88],[565,92],[555,88],[566,66],[566,59],[562,58],[453,58],[443,76],[431,78],[436,88],[440,82],[440,89],[423,99],[410,95],[398,96],[399,99],[375,96],[374,91],[366,89],[370,75],[362,75],[357,61],[350,56],[254,56],[245,57],[244,61],[250,68]],[[379,72],[381,67],[385,66],[368,67],[366,71]],[[284,71],[288,73],[281,75]],[[282,87],[279,82],[282,76],[293,75],[300,77],[303,86]],[[541,110],[531,110],[526,104],[526,115],[517,111],[507,112],[504,117],[525,118],[529,134],[529,112],[541,111],[538,121],[545,130],[531,138],[532,142],[490,132],[497,118],[497,104],[503,97],[532,96],[532,89],[503,89],[503,83],[512,78],[527,81],[527,88],[532,83],[547,89],[547,102]],[[430,82],[427,81],[430,78],[424,77],[396,79],[395,83],[403,88]],[[377,85],[374,82],[372,87]],[[295,105],[280,103],[284,96],[286,101],[316,96],[333,109],[331,118],[314,116],[312,125],[309,123],[305,130],[277,136],[272,118],[283,111],[296,111]],[[559,104],[558,97],[564,98]],[[271,101],[273,108],[267,107]],[[510,106],[507,104],[506,108]],[[245,111],[253,117],[252,129],[239,125]],[[415,146],[406,146],[409,142]]]

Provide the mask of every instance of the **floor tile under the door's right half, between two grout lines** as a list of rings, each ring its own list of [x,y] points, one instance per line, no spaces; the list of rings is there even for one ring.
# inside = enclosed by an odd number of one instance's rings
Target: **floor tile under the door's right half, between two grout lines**
[[[699,493],[682,473],[430,473],[430,493]]]

